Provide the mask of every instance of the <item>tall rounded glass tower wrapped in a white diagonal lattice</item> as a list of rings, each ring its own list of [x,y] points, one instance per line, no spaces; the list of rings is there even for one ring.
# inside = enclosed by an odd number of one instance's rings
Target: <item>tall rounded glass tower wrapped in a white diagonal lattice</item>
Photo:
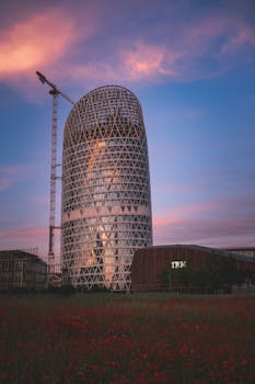
[[[128,89],[97,88],[68,116],[61,211],[63,283],[128,291],[135,250],[152,244],[147,137]]]

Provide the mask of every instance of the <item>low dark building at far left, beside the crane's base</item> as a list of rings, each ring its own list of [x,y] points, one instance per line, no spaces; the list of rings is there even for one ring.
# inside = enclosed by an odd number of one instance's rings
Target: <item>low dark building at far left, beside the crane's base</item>
[[[47,283],[47,263],[23,250],[0,251],[0,291],[40,291]]]

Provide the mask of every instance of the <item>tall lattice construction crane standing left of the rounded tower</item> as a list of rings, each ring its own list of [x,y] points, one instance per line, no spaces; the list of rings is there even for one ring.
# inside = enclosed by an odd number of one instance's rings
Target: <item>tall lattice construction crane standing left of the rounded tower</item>
[[[74,105],[74,102],[59,88],[49,81],[42,72],[36,71],[39,81],[43,84],[49,86],[49,94],[53,97],[53,127],[51,127],[51,165],[50,165],[50,201],[49,201],[49,244],[48,244],[48,269],[49,273],[51,272],[51,267],[55,263],[55,253],[54,253],[54,236],[55,229],[60,228],[56,226],[55,217],[56,217],[56,180],[60,179],[57,177],[57,98],[61,95],[69,103]]]

